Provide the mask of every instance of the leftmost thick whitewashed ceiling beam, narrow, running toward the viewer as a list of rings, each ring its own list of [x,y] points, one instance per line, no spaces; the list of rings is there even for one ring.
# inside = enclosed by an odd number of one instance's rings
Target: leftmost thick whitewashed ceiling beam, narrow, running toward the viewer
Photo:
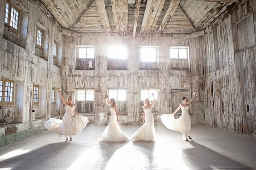
[[[104,27],[105,31],[109,33],[111,31],[111,29],[110,29],[110,24],[108,21],[108,14],[107,14],[107,11],[105,8],[104,0],[96,0],[96,5],[99,10],[100,17],[102,19],[103,27]]]

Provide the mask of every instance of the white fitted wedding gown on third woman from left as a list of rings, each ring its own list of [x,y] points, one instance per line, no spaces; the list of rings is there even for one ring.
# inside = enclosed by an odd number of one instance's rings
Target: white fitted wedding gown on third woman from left
[[[132,136],[132,141],[155,141],[154,116],[151,108],[143,108],[145,123]]]

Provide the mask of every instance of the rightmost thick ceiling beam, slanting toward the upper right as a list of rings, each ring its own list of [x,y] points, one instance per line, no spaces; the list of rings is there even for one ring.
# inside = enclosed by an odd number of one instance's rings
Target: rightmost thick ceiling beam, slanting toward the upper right
[[[163,32],[163,29],[166,27],[166,24],[168,23],[169,18],[172,17],[177,7],[179,6],[179,3],[180,3],[180,0],[177,0],[177,1],[172,0],[172,2],[169,5],[169,8],[166,11],[166,14],[163,17],[163,20],[158,28],[157,33]]]

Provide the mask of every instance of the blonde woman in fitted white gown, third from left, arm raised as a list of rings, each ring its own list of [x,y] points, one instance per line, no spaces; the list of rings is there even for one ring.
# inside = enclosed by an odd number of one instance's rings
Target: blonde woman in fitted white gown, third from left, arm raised
[[[154,93],[152,93],[154,98]],[[143,106],[143,125],[132,136],[132,141],[155,141],[155,129],[154,129],[154,116],[151,112],[152,107],[157,101],[154,98],[154,102],[151,103],[149,99],[144,100]]]

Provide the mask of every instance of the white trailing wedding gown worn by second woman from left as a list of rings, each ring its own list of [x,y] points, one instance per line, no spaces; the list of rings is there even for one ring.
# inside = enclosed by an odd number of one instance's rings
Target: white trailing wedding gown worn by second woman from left
[[[107,140],[109,142],[124,142],[129,140],[128,136],[125,135],[121,131],[119,124],[117,123],[116,111],[110,108],[111,116],[108,126],[102,132],[101,137],[103,140]]]

